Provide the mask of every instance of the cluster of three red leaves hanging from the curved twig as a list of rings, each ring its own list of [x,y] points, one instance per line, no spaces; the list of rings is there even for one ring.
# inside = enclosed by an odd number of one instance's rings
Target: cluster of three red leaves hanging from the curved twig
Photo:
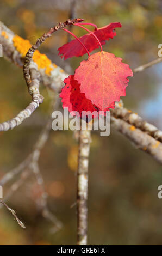
[[[132,70],[129,65],[122,63],[121,58],[104,52],[101,46],[105,44],[105,40],[116,35],[114,31],[116,27],[121,27],[121,23],[111,23],[92,34],[80,37],[79,40],[85,47],[75,39],[59,48],[59,54],[63,54],[61,58],[64,56],[67,59],[72,56],[82,56],[86,52],[89,54],[99,45],[101,47],[100,52],[83,60],[74,75],[64,80],[65,87],[61,90],[60,97],[63,108],[68,107],[71,114],[80,118],[86,115],[83,112],[88,111],[105,114],[110,108],[115,108],[115,102],[120,101],[120,96],[126,95],[129,82],[127,77],[133,76]],[[97,36],[97,40],[93,34]],[[92,118],[94,117],[95,114],[92,115]]]

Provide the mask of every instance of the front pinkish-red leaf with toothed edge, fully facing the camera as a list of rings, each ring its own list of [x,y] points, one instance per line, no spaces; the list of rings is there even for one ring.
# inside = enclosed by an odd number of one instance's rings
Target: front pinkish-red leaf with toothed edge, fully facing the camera
[[[97,52],[83,60],[75,71],[74,80],[80,84],[80,93],[85,93],[101,111],[126,95],[127,77],[133,76],[133,72],[121,60],[112,53]]]

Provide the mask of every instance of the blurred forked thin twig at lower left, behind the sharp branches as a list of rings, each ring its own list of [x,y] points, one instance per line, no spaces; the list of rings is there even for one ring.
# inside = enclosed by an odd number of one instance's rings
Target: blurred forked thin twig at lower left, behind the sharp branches
[[[54,102],[54,103],[53,103]],[[58,97],[58,94],[55,94],[55,101],[52,101],[51,109],[58,109],[60,104],[60,99]],[[63,224],[58,220],[58,218],[48,209],[47,206],[47,198],[48,194],[45,191],[45,185],[43,181],[43,177],[41,175],[40,169],[39,169],[39,157],[40,157],[40,151],[44,147],[49,132],[51,130],[51,117],[49,117],[45,127],[43,128],[38,141],[36,141],[34,145],[33,152],[30,153],[30,155],[27,157],[26,160],[24,160],[21,164],[19,164],[18,167],[11,170],[9,173],[4,175],[2,180],[0,181],[0,185],[6,184],[9,180],[13,179],[16,174],[19,174],[23,170],[23,174],[21,175],[20,179],[14,182],[14,184],[10,187],[8,193],[6,194],[4,200],[8,200],[11,196],[13,196],[13,193],[20,188],[20,186],[24,183],[24,181],[28,178],[28,176],[33,172],[36,176],[36,181],[38,182],[38,185],[41,187],[42,193],[39,200],[37,200],[37,204],[42,212],[42,216],[47,218],[47,220],[51,221],[54,224],[54,227],[52,227],[52,232],[58,231],[63,227]],[[26,169],[28,168],[28,169]],[[32,171],[32,172],[31,172]]]

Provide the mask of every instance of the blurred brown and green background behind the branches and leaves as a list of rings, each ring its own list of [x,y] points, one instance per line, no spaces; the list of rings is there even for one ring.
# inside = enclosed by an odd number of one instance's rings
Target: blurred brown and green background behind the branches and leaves
[[[16,34],[33,44],[40,35],[70,15],[70,0],[3,0],[0,19]],[[162,43],[162,2],[160,0],[83,0],[76,1],[75,16],[98,27],[119,21],[122,28],[103,47],[136,68],[158,58]],[[82,29],[73,28],[77,36]],[[57,49],[67,42],[66,32],[55,33],[40,48],[52,62],[73,71],[85,56],[64,61]],[[124,106],[162,129],[162,63],[130,78]],[[0,122],[13,118],[25,108],[30,96],[22,70],[0,58]],[[0,178],[21,163],[32,151],[49,112],[50,97],[41,87],[45,101],[32,117],[12,131],[0,133]],[[8,210],[0,209],[1,245],[72,245],[76,243],[77,142],[71,131],[51,131],[41,151],[40,170],[49,195],[48,207],[63,227],[53,232],[53,224],[42,217],[36,202],[40,189],[30,175],[11,194],[8,205],[26,225],[22,229]],[[89,166],[90,245],[162,244],[162,185],[159,163],[134,147],[127,138],[111,129],[109,137],[92,132]],[[3,196],[19,177],[3,187]]]

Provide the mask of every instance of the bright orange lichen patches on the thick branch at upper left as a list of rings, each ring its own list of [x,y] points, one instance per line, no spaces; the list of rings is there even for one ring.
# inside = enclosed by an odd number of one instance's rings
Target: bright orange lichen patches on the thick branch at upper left
[[[16,50],[21,54],[22,57],[25,57],[29,48],[32,47],[28,40],[24,40],[18,35],[14,36],[13,42]],[[38,69],[45,69],[45,73],[47,75],[51,75],[53,67],[57,68],[57,65],[54,63],[52,64],[51,60],[48,59],[45,54],[41,54],[38,50],[36,50],[33,54],[33,61],[38,65]],[[64,72],[64,70],[60,70],[60,72]]]

